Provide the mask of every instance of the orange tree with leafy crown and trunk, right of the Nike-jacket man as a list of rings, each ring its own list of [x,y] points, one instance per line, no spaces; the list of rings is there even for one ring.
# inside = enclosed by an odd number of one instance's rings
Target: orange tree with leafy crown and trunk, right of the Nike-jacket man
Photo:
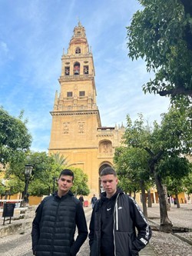
[[[179,157],[181,154],[191,152],[191,121],[187,119],[187,111],[180,115],[177,108],[170,108],[167,114],[162,115],[161,124],[154,121],[150,128],[144,124],[143,115],[132,123],[127,115],[127,128],[124,142],[134,148],[141,148],[148,154],[148,167],[157,187],[161,214],[161,231],[172,231],[172,224],[167,216],[167,194],[164,190],[164,177],[166,170],[158,168],[162,159]],[[172,170],[174,175],[174,170]],[[182,172],[182,170],[180,170]],[[168,173],[171,177],[171,169]]]

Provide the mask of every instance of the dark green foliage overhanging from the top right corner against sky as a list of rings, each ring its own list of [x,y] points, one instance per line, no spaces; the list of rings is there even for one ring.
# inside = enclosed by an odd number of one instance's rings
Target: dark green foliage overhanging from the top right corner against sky
[[[132,59],[143,58],[153,80],[144,92],[162,96],[192,97],[192,2],[184,0],[139,0],[127,27],[127,48]]]

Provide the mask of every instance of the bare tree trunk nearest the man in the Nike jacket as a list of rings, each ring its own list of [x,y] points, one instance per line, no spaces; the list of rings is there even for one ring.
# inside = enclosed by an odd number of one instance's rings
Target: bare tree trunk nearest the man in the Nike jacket
[[[161,183],[161,177],[157,175],[157,172],[155,171],[155,169],[153,170],[153,172],[154,172],[155,183],[157,186],[157,192],[159,195],[160,216],[161,216],[160,231],[171,233],[173,224],[171,223],[167,215],[167,203],[165,200],[164,188]]]

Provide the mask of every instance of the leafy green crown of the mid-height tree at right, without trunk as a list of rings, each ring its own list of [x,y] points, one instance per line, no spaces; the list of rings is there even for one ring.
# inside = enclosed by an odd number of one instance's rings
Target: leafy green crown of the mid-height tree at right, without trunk
[[[148,167],[151,169],[151,175],[158,176],[158,183],[173,181],[176,185],[177,181],[187,176],[190,171],[189,161],[181,155],[191,153],[191,120],[188,118],[188,109],[181,112],[181,109],[174,108],[174,105],[161,117],[160,125],[154,121],[153,127],[150,127],[145,124],[143,115],[138,115],[134,124],[127,115],[124,142],[127,148],[132,146],[147,152]],[[128,161],[127,159],[124,158],[124,161]],[[141,161],[141,157],[136,157],[134,161]]]

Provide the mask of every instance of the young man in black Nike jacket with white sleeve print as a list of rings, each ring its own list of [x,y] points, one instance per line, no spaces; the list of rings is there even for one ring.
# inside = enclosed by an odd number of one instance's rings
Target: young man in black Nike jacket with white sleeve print
[[[91,214],[91,256],[136,256],[149,242],[151,228],[134,198],[117,188],[113,168],[101,171],[104,192]],[[137,234],[135,231],[137,228]]]

